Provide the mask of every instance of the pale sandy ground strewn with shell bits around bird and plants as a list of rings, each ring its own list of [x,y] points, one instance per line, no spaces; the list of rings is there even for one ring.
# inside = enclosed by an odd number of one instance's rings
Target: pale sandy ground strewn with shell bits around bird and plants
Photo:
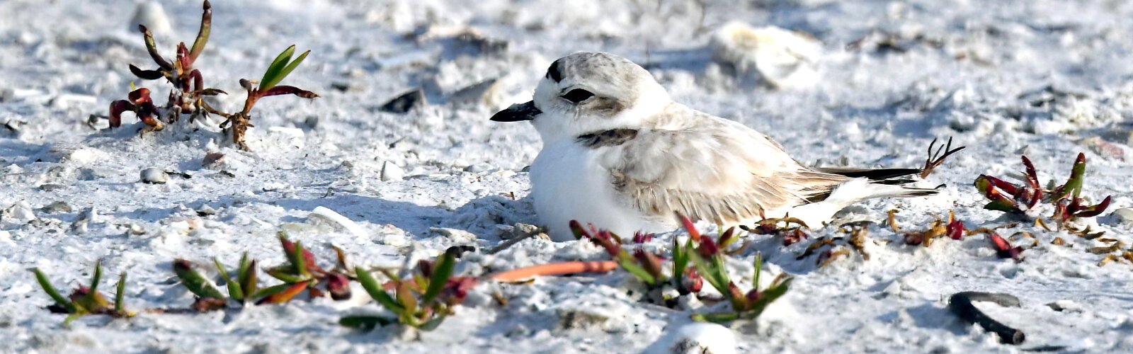
[[[172,24],[157,36],[170,56],[191,42],[196,1],[163,1]],[[523,124],[491,115],[527,101],[547,65],[563,54],[610,51],[646,65],[675,100],[741,121],[821,166],[917,167],[934,137],[968,146],[931,176],[947,184],[926,199],[870,201],[846,218],[878,221],[863,260],[819,268],[789,247],[750,236],[735,258],[747,275],[757,252],[770,273],[795,277],[764,318],[732,327],[741,352],[1070,352],[1133,351],[1133,264],[1105,267],[1087,252],[1108,245],[1029,225],[1039,244],[1022,262],[995,256],[983,236],[909,246],[881,226],[900,210],[909,229],[954,210],[970,228],[1006,225],[982,210],[980,174],[1011,176],[1020,154],[1042,180],[1065,178],[1077,152],[1089,158],[1085,195],[1133,206],[1133,5],[1124,1],[227,1],[214,6],[212,41],[197,67],[210,86],[233,93],[258,78],[289,44],[312,50],[284,84],[322,95],[269,98],[254,111],[250,152],[227,145],[219,121],[137,134],[105,120],[110,101],[142,82],[127,65],[152,67],[129,30],[133,1],[0,2],[0,351],[3,352],[619,352],[642,351],[689,322],[690,311],[645,304],[623,272],[482,285],[466,306],[418,339],[395,328],[358,332],[340,315],[375,304],[326,298],[206,314],[143,313],[130,320],[62,315],[28,268],[76,284],[102,259],[129,271],[131,309],[185,307],[170,261],[235,263],[247,251],[283,262],[275,233],[355,262],[398,266],[451,245],[491,247],[501,226],[535,224],[523,168],[539,150]],[[710,60],[710,33],[730,20],[809,33],[820,43],[813,86],[774,90],[727,75]],[[487,41],[454,34],[467,28]],[[496,79],[486,94],[462,88]],[[414,88],[428,103],[381,110]],[[224,159],[203,167],[208,152]],[[389,167],[389,166],[395,167]],[[383,167],[387,170],[382,178]],[[177,171],[163,185],[139,171]],[[401,176],[394,169],[401,170]],[[400,178],[399,178],[400,177]],[[68,208],[43,209],[56,202]],[[58,206],[58,205],[57,205]],[[359,224],[349,233],[308,213],[330,208]],[[1049,213],[1045,210],[1043,213]],[[1126,247],[1133,227],[1108,212],[1092,220]],[[1024,222],[1025,224],[1025,222]],[[817,231],[815,237],[836,235]],[[656,241],[663,247],[672,235]],[[1073,247],[1050,244],[1055,237]],[[495,255],[474,253],[458,271],[482,276],[522,266],[598,260],[587,243],[529,239]],[[1022,346],[960,323],[945,309],[960,290],[1017,295],[1019,309],[985,306],[1028,334]],[[489,294],[510,300],[499,305]],[[360,293],[358,295],[361,295]],[[1055,311],[1048,303],[1060,302]],[[700,309],[707,311],[712,309]],[[587,319],[579,321],[578,319]],[[653,348],[656,348],[653,347]]]

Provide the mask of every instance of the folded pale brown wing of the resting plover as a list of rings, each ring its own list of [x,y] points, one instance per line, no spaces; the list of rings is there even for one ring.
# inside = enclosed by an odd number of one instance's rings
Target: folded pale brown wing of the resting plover
[[[807,203],[849,177],[812,170],[767,136],[674,103],[599,163],[637,209],[658,218],[741,222]]]

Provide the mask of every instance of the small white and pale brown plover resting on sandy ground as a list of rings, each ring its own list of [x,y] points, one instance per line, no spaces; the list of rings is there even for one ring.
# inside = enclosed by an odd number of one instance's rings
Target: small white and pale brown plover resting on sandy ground
[[[572,239],[570,220],[620,235],[693,221],[736,225],[790,213],[820,227],[853,202],[934,194],[894,179],[921,169],[810,168],[766,135],[673,102],[625,58],[580,52],[555,60],[534,100],[495,121],[530,120],[543,140],[531,163],[539,222]]]

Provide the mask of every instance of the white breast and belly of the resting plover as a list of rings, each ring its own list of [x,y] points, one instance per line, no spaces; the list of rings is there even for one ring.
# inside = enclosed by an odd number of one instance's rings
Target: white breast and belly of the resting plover
[[[636,231],[662,233],[670,225],[647,219],[614,191],[610,171],[597,154],[572,141],[544,145],[531,163],[531,199],[539,222],[554,241],[574,239],[570,220],[630,237]]]

